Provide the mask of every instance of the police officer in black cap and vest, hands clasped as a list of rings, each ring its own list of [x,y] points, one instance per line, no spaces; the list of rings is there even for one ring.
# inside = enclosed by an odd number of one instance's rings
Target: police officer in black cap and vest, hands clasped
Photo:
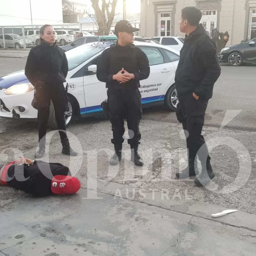
[[[108,88],[109,117],[113,131],[111,142],[115,147],[110,165],[117,165],[122,158],[124,116],[129,129],[131,160],[137,166],[143,165],[138,154],[141,139],[139,123],[142,114],[141,94],[138,88],[140,80],[149,77],[150,68],[145,53],[133,44],[133,33],[136,31],[139,31],[139,28],[132,27],[128,21],[119,21],[115,26],[118,38],[116,44],[106,49],[97,63],[97,78],[105,82]]]

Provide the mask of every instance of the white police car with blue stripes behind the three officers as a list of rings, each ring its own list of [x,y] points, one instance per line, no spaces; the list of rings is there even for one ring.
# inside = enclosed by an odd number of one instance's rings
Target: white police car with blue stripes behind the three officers
[[[102,51],[114,42],[97,42],[81,45],[66,52],[69,72],[68,83],[69,112],[66,113],[67,126],[74,117],[101,115],[101,102],[107,98],[105,84],[96,77],[97,60]],[[169,47],[135,42],[149,59],[150,76],[140,82],[143,107],[165,104],[175,111],[178,103],[174,74],[179,62],[179,52]],[[66,85],[66,84],[64,84]],[[37,110],[31,106],[34,87],[24,74],[24,70],[0,78],[0,117],[10,119],[37,120]],[[54,108],[51,104],[49,126],[57,128]]]

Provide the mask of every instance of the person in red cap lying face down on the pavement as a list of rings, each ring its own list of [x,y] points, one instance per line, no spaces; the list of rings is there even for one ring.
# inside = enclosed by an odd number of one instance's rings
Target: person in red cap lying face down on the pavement
[[[0,166],[0,185],[39,197],[75,194],[81,188],[80,181],[71,176],[68,167],[59,163],[32,161],[21,156],[16,161]]]

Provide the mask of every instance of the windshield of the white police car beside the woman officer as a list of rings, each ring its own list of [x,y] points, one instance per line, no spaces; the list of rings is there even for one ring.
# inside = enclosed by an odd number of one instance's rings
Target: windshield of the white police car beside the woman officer
[[[66,51],[66,56],[69,63],[69,71],[75,69],[86,60],[90,59],[98,52],[103,51],[106,47],[110,46],[108,43],[90,43],[84,44],[79,47],[73,48],[69,51]]]

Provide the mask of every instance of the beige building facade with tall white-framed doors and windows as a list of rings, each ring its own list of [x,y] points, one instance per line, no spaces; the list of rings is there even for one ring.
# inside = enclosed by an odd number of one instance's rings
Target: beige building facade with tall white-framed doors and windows
[[[256,0],[141,0],[141,36],[184,36],[179,30],[181,9],[199,8],[209,32],[229,33],[227,45],[256,38]]]

